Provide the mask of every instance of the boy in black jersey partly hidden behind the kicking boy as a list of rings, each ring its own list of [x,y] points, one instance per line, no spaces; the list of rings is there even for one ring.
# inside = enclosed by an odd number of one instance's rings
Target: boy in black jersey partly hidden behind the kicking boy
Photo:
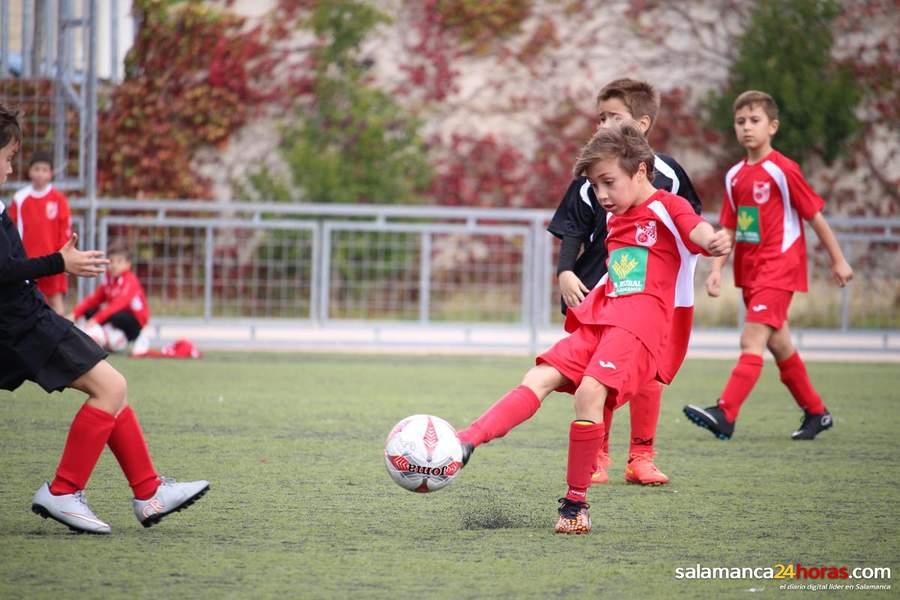
[[[659,112],[659,94],[650,84],[634,79],[611,81],[597,94],[597,124],[633,120],[644,136],[653,129]],[[702,211],[700,198],[687,173],[675,159],[656,154],[653,164],[653,187],[686,199],[697,214]],[[576,177],[566,190],[547,230],[560,238],[561,246],[556,274],[562,298],[562,311],[581,304],[606,273],[606,211],[599,205],[586,177]],[[584,251],[579,252],[584,248]],[[648,395],[649,394],[649,395]],[[662,485],[669,481],[653,463],[653,442],[662,387],[647,389],[629,404],[631,411],[631,447],[625,479],[630,483]],[[612,412],[604,415],[606,437],[597,457],[592,481],[606,483],[609,476],[609,430]]]

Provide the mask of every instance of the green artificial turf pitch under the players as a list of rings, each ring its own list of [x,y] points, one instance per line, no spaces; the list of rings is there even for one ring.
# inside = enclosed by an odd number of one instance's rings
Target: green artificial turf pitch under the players
[[[778,593],[793,580],[679,580],[674,570],[900,568],[896,365],[810,362],[835,426],[794,442],[800,412],[770,363],[735,438],[720,442],[681,406],[714,399],[733,363],[688,360],[659,420],[656,462],[672,483],[625,484],[629,416],[619,411],[610,483],[590,491],[594,532],[573,539],[552,533],[569,396],[552,394],[479,448],[445,490],[406,492],[385,472],[384,439],[402,417],[427,412],[461,427],[520,381],[528,358],[112,360],[156,467],[211,490],[144,529],[104,451],[87,498],[112,534],[73,535],[29,506],[84,395],[34,384],[0,392],[0,597],[800,598],[826,596]]]

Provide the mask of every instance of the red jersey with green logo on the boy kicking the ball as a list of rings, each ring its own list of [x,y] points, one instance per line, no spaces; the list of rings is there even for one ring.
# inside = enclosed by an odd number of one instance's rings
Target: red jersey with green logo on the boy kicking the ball
[[[609,215],[608,272],[584,302],[566,312],[566,331],[613,325],[634,334],[672,380],[687,353],[694,311],[694,269],[705,251],[690,241],[703,219],[687,200],[657,190],[620,216]]]

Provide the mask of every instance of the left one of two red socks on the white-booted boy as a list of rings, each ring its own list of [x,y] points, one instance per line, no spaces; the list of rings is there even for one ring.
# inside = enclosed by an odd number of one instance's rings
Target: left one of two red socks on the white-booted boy
[[[74,494],[87,486],[115,424],[116,418],[108,412],[89,404],[82,405],[69,426],[50,493]]]

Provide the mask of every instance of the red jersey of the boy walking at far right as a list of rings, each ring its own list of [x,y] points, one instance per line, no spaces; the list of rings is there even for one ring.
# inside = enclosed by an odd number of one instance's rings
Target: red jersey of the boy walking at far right
[[[777,150],[725,175],[719,220],[735,232],[734,284],[805,292],[806,237],[803,220],[825,206],[800,167]]]

